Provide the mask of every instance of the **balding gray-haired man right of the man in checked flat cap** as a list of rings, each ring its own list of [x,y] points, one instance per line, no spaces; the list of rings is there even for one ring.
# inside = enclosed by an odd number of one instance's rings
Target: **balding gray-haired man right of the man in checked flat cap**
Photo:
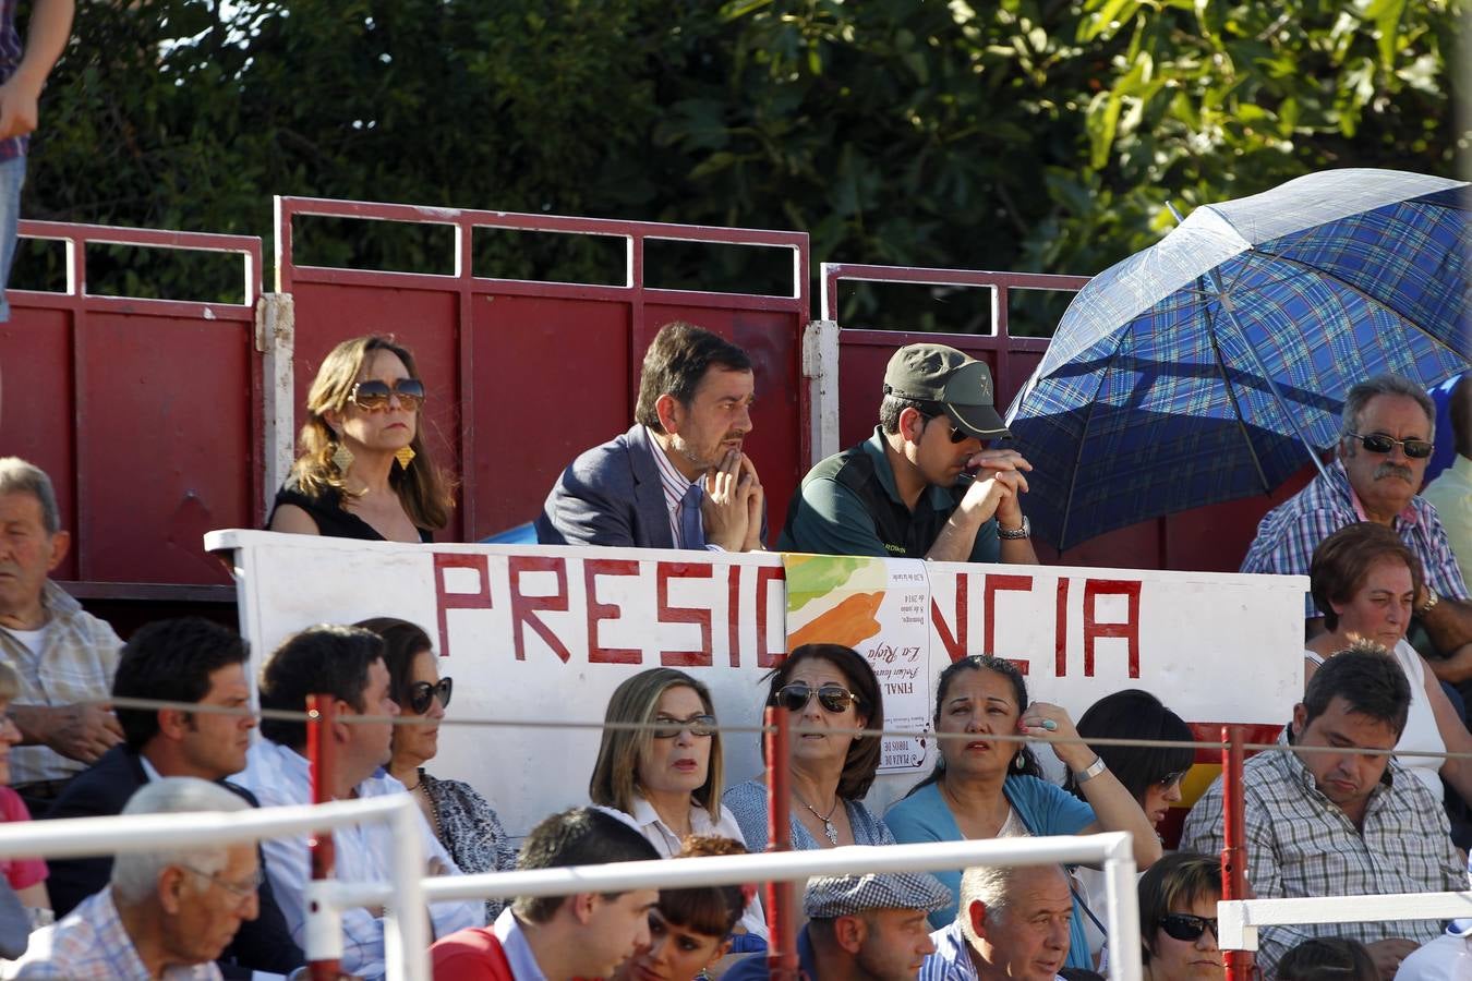
[[[966,869],[955,921],[930,934],[935,953],[919,981],[1054,981],[1069,959],[1072,918],[1061,866]]]

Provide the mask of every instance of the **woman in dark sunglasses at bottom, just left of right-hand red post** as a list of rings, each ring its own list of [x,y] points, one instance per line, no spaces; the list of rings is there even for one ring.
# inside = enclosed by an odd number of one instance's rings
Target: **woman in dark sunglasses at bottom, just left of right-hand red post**
[[[1176,852],[1139,877],[1139,934],[1145,981],[1222,981],[1216,903],[1222,860]]]

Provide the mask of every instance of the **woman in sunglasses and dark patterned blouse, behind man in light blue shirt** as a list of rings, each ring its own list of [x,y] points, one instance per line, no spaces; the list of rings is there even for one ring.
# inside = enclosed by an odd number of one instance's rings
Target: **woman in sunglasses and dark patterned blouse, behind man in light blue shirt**
[[[461,872],[515,869],[517,849],[486,799],[464,781],[439,780],[424,769],[439,752],[440,719],[455,690],[449,678],[440,677],[439,656],[428,634],[392,616],[361,621],[355,627],[383,637],[389,697],[399,704],[389,774],[414,796],[434,837]],[[503,905],[503,899],[487,899],[486,922],[493,922]]]

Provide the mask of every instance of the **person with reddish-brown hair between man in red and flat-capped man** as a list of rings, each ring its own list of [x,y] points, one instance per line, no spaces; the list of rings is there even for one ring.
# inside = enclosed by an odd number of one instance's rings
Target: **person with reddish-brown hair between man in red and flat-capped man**
[[[676,856],[746,855],[740,841],[690,835]],[[730,950],[730,931],[755,896],[755,885],[695,885],[659,890],[649,910],[649,946],[629,957],[612,981],[696,981]]]

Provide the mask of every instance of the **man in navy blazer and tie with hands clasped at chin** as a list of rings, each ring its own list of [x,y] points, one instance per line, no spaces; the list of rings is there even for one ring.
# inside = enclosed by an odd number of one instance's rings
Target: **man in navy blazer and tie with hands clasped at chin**
[[[760,552],[765,499],[742,453],[754,387],[746,352],[667,324],[645,353],[633,428],[562,471],[537,541]]]

